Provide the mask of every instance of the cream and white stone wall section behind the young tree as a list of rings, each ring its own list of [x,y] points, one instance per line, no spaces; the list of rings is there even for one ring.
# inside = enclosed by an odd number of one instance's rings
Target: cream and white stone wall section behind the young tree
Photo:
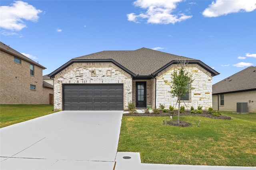
[[[179,68],[177,65],[171,65],[168,68],[158,73],[156,81],[156,106],[164,104],[166,109],[169,106],[174,106],[178,109],[177,98],[172,97],[170,92],[170,82],[172,80],[171,74],[174,69]],[[212,76],[210,72],[198,64],[187,64],[186,71],[192,75],[192,87],[195,88],[189,92],[189,101],[182,101],[181,106],[185,109],[190,109],[193,106],[197,109],[198,106],[202,106],[202,109],[208,109],[212,107]]]

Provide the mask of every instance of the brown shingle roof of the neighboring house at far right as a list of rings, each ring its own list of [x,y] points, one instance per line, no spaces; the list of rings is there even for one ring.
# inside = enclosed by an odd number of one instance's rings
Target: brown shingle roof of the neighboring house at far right
[[[212,94],[225,94],[256,90],[256,67],[250,66],[244,70],[212,85]]]

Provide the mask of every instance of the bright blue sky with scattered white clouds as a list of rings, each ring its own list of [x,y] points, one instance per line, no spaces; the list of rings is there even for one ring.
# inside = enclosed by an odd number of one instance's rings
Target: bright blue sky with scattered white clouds
[[[142,47],[220,75],[256,66],[256,0],[1,0],[0,38],[49,74],[70,59]]]

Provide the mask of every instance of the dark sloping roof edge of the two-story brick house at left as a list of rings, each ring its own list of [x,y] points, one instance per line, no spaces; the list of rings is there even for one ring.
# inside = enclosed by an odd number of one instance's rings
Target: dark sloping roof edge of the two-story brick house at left
[[[18,51],[12,49],[11,47],[9,47],[8,45],[5,45],[4,43],[0,42],[0,50],[4,51],[10,55],[13,55],[14,57],[17,57],[18,59],[27,61],[28,63],[31,63],[33,65],[36,65],[38,67],[41,67],[42,69],[46,69],[44,66],[36,63],[35,61],[31,60],[30,58],[26,57],[25,55],[19,53]]]

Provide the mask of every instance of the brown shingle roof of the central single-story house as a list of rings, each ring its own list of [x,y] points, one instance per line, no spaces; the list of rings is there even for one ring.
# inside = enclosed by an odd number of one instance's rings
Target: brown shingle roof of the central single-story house
[[[58,72],[75,62],[112,62],[134,77],[155,76],[158,72],[179,61],[199,64],[204,69],[208,70],[212,76],[219,74],[200,60],[141,48],[134,51],[101,51],[76,57],[50,73],[49,76],[56,75]]]

